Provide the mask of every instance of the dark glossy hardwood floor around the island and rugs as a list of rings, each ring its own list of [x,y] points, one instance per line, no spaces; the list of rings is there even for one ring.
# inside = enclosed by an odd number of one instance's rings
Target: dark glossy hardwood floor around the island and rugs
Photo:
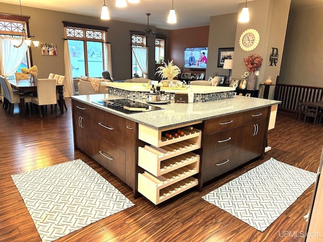
[[[264,232],[201,197],[271,157],[316,172],[323,146],[322,125],[298,123],[295,115],[278,112],[275,129],[268,131],[268,145],[273,148],[263,160],[214,181],[201,193],[191,190],[177,199],[155,206],[144,197],[133,199],[132,190],[122,181],[81,151],[74,151],[71,104],[69,99],[66,102],[67,112],[56,117],[49,108],[42,119],[37,114],[20,118],[18,106],[13,117],[0,108],[0,241],[41,241],[11,175],[73,159],[82,159],[89,164],[135,206],[66,235],[57,242],[303,240],[302,231],[306,226],[303,215],[309,209],[313,185]]]

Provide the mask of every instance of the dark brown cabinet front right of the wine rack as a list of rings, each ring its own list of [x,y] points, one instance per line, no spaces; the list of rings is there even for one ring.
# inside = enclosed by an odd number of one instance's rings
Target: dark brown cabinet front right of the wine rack
[[[201,183],[263,156],[270,107],[206,120],[202,141]]]

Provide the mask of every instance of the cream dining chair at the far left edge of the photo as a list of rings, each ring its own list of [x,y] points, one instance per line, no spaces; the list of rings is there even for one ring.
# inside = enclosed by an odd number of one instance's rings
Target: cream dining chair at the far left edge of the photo
[[[5,77],[0,76],[0,83],[4,91],[4,108],[6,108],[8,110],[8,113],[13,116],[15,104],[20,103],[19,93],[13,92],[9,81]],[[28,110],[28,103],[31,102],[31,96],[29,94],[24,94],[24,99],[26,103],[26,109]]]

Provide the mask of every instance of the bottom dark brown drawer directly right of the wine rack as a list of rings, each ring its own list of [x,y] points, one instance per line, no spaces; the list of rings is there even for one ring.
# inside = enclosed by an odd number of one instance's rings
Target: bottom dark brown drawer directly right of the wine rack
[[[239,166],[239,145],[205,156],[203,159],[203,183]]]

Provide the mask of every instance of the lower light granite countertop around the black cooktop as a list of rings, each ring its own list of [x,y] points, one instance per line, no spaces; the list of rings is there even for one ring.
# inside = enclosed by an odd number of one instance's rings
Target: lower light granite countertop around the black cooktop
[[[93,94],[93,95],[76,95],[71,96],[72,99],[86,103],[90,106],[102,109],[104,111],[116,114],[118,116],[130,119],[138,124],[143,124],[154,129],[166,129],[173,126],[185,125],[197,121],[202,121],[210,118],[225,116],[232,113],[257,109],[260,107],[272,106],[281,103],[281,101],[234,96],[233,98],[197,102],[197,103],[174,103],[164,105],[156,105],[161,110],[147,111],[141,113],[125,114],[111,108],[93,103],[93,101],[103,99],[121,98],[111,94]],[[139,100],[137,100],[139,101]],[[143,101],[141,101],[143,102]]]

